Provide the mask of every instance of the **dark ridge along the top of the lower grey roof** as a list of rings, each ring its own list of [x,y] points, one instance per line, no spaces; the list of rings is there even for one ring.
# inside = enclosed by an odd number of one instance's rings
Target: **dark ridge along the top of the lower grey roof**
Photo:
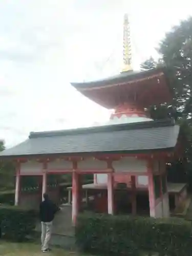
[[[31,132],[29,135],[29,139],[40,138],[40,137],[63,136],[63,135],[78,135],[78,134],[84,134],[84,133],[101,133],[101,132],[109,132],[109,131],[112,132],[112,131],[121,131],[121,130],[147,129],[152,127],[173,126],[173,125],[175,125],[175,121],[173,119],[111,124],[111,125],[81,127],[81,128],[69,129],[69,130]]]

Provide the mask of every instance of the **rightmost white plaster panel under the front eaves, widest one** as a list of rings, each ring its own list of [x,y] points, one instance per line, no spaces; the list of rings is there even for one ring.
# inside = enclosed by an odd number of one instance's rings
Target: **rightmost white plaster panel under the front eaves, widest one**
[[[112,163],[116,173],[118,172],[147,172],[146,160],[139,160],[134,157],[123,157]]]

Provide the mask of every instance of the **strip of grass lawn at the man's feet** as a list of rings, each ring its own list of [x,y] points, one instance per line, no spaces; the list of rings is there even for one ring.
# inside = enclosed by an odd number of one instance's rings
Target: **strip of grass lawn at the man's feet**
[[[9,243],[0,240],[0,255],[1,256],[83,256],[72,251],[65,251],[59,248],[52,248],[51,252],[43,253],[40,246],[33,243]]]

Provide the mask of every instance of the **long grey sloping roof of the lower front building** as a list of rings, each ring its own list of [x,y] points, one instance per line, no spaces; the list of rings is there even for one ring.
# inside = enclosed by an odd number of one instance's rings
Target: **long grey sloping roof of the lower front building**
[[[1,152],[0,158],[163,150],[175,147],[178,134],[178,125],[155,121],[31,133],[26,141]]]

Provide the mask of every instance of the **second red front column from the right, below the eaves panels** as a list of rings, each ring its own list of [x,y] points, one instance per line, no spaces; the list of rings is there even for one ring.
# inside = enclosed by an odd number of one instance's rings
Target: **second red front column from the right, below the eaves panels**
[[[114,177],[108,174],[108,214],[114,214]]]

